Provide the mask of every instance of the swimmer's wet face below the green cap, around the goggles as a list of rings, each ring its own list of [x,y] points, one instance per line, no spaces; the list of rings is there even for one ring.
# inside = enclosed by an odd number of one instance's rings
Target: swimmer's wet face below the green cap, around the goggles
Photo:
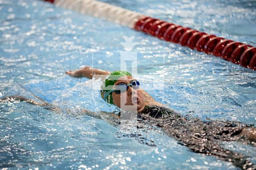
[[[121,83],[128,85],[133,80],[136,79],[131,76],[123,76],[115,82],[115,85],[119,85]],[[143,91],[140,90],[140,88],[134,89],[129,86],[128,90],[121,92],[121,94],[116,94],[115,92],[113,92],[112,97],[114,105],[125,111],[142,111],[145,107]]]

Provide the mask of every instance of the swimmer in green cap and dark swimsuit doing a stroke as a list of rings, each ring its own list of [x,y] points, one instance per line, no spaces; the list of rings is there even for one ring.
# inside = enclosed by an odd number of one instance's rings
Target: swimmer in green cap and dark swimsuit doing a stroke
[[[256,128],[252,125],[218,120],[202,121],[189,116],[181,116],[176,111],[155,101],[152,96],[140,88],[140,82],[126,71],[111,73],[87,66],[80,70],[67,71],[66,74],[78,78],[87,77],[88,79],[92,79],[93,75],[103,75],[105,80],[101,87],[101,96],[107,103],[122,108],[120,101],[125,96],[128,105],[133,105],[133,102],[137,103],[135,110],[137,110],[138,122],[150,122],[151,125],[162,128],[167,135],[195,153],[203,153],[223,161],[230,161],[241,169],[256,169],[256,165],[248,160],[247,156],[230,151],[219,144],[220,142],[239,141],[256,146]],[[113,89],[106,90],[105,86],[108,85],[113,85]],[[137,96],[136,99],[133,98],[134,96]],[[22,96],[12,96],[12,98],[33,105],[40,105],[55,112],[60,111],[58,107],[52,106],[40,98],[38,99],[43,104]],[[8,97],[2,99],[2,102],[6,99]],[[120,115],[114,115],[114,117],[119,118]]]

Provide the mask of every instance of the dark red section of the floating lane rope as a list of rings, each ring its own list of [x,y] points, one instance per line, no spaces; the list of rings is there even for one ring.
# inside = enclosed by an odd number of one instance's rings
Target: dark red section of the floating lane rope
[[[151,17],[143,17],[138,20],[134,29],[151,34],[161,40],[179,43],[182,46],[256,70],[256,48],[251,45],[226,40],[216,35],[177,26]]]

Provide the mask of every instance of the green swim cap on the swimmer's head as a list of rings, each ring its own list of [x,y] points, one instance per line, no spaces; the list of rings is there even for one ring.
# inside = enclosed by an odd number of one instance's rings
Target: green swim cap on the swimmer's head
[[[123,76],[131,76],[131,74],[128,73],[127,71],[114,71],[105,78],[100,90],[102,99],[105,98],[106,102],[113,104],[112,92],[109,93],[109,91],[112,90],[111,86],[115,84],[116,80],[118,80],[120,77],[123,77]],[[108,87],[109,85],[110,87]]]

